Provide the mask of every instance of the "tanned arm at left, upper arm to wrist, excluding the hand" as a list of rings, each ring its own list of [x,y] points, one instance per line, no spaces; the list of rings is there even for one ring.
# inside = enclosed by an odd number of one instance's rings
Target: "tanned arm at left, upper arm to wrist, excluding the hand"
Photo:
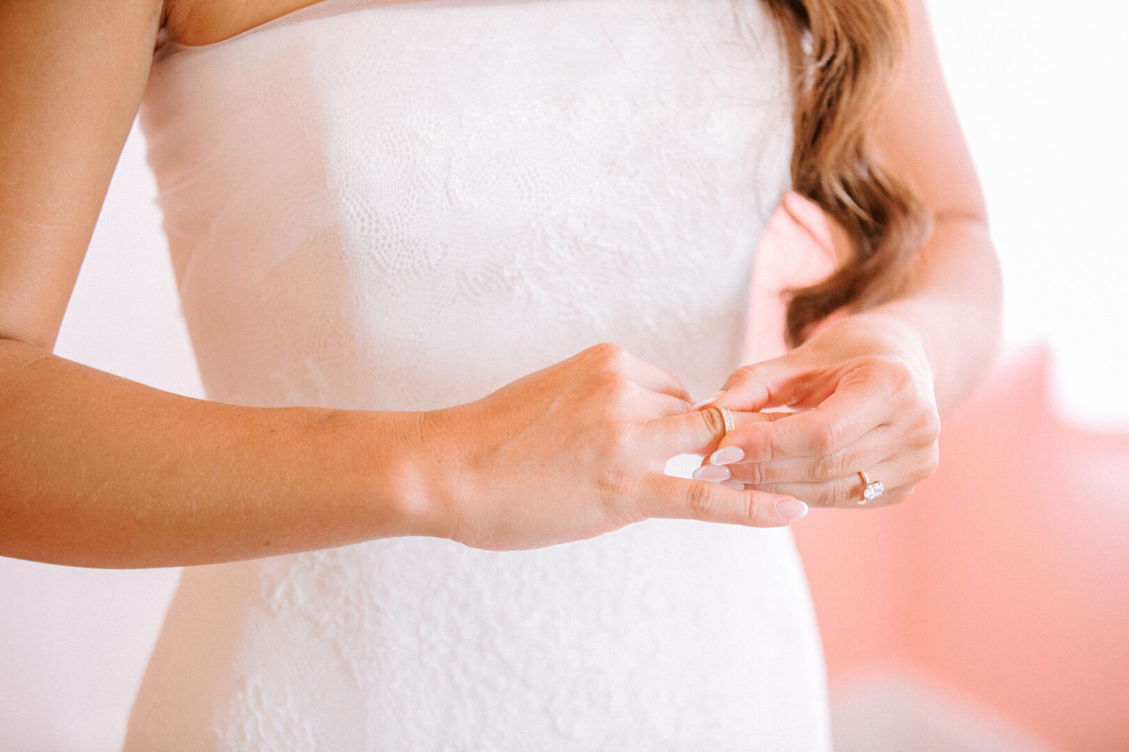
[[[52,354],[161,5],[0,2],[0,555],[163,566],[409,532],[406,458],[379,448],[410,415],[362,433],[365,416],[190,399]]]

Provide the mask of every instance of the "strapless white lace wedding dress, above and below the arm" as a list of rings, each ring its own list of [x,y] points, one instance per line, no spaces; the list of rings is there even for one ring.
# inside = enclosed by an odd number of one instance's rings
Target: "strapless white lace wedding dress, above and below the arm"
[[[602,340],[695,398],[742,362],[789,187],[755,0],[326,0],[163,45],[141,117],[210,399],[426,409]],[[184,570],[128,750],[809,752],[788,529],[648,520]]]

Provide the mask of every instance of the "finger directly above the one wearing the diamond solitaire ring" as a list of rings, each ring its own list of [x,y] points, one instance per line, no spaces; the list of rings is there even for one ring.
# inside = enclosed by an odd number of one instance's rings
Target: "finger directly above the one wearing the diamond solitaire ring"
[[[846,478],[891,457],[902,443],[896,428],[883,425],[852,444],[831,454],[795,457],[767,462],[734,462],[728,466],[730,478],[753,485],[767,483],[825,483]],[[703,465],[709,462],[709,458]]]

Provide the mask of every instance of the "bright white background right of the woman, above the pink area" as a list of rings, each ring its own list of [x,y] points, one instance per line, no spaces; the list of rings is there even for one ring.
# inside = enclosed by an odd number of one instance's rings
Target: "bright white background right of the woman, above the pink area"
[[[1129,427],[1129,9],[929,3],[988,194],[1010,345],[1049,339],[1062,416]]]

